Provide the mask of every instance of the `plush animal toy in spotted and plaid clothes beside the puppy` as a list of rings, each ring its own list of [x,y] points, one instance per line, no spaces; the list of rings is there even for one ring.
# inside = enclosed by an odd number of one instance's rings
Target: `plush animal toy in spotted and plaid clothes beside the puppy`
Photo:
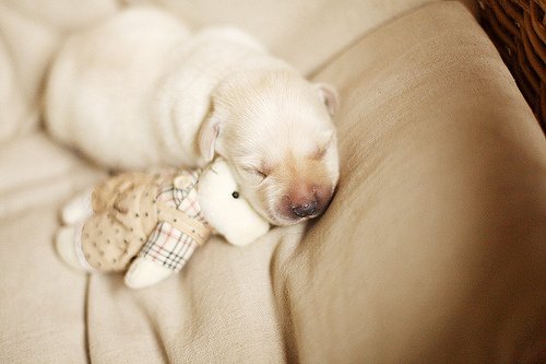
[[[111,177],[70,201],[61,219],[56,245],[69,265],[100,272],[130,266],[124,282],[133,289],[178,272],[212,233],[245,245],[270,228],[219,158],[202,172]]]

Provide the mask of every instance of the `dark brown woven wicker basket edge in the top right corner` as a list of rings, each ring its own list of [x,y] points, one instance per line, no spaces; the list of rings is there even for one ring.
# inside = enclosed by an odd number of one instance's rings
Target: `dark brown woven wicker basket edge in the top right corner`
[[[546,0],[478,0],[482,23],[546,132]]]

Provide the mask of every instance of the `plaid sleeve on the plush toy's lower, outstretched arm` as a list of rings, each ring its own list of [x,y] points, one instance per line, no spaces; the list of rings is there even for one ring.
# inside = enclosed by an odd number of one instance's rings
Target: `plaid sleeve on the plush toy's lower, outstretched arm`
[[[168,222],[161,222],[140,250],[139,257],[178,272],[198,247],[199,244],[190,235]]]

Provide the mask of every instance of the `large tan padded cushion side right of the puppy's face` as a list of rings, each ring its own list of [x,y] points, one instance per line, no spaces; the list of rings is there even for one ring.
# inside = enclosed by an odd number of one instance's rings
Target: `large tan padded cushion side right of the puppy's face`
[[[455,2],[424,7],[317,79],[342,94],[342,174],[325,215],[275,269],[295,359],[536,354],[546,144],[476,21]]]

